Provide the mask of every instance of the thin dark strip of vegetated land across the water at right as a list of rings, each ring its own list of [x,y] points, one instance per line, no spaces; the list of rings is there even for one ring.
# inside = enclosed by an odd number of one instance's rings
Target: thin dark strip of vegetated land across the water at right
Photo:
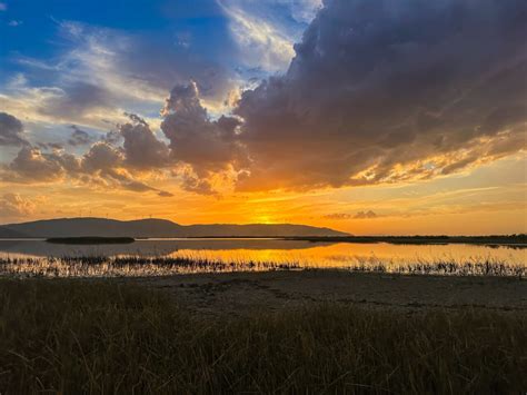
[[[489,236],[322,236],[286,237],[287,240],[312,243],[389,243],[389,244],[479,244],[488,246],[513,245],[527,247],[527,235]]]

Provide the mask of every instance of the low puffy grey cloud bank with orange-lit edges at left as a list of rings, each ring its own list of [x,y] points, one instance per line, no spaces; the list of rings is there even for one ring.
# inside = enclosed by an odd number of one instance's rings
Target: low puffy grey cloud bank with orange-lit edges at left
[[[172,196],[142,181],[142,171],[167,165],[168,147],[156,139],[148,124],[135,115],[130,122],[119,125],[115,132],[123,146],[107,140],[92,144],[81,156],[66,152],[61,147],[24,144],[16,158],[0,167],[0,179],[9,182],[56,182],[70,180],[89,187],[120,188],[137,192],[153,191]],[[22,124],[14,117],[10,124]],[[88,134],[72,127],[70,144],[86,145]],[[49,150],[51,148],[51,151]]]

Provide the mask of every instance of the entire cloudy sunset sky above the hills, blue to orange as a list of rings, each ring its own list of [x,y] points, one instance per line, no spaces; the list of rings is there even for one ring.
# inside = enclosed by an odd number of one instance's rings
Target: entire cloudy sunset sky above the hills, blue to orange
[[[0,0],[0,224],[527,233],[524,0]]]

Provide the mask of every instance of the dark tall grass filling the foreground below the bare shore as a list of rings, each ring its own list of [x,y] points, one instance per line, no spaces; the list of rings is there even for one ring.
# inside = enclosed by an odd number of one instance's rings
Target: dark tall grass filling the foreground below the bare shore
[[[92,280],[0,280],[0,393],[527,388],[527,318],[341,305],[210,318]]]

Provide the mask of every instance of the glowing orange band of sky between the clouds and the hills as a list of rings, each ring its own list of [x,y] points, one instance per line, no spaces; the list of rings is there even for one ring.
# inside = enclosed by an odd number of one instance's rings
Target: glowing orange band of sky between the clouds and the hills
[[[527,233],[523,158],[487,165],[465,177],[407,185],[173,197],[69,185],[0,185],[17,190],[23,215],[2,223],[57,217],[166,218],[178,224],[304,224],[355,235],[484,235]],[[170,189],[172,188],[172,189]],[[369,213],[371,211],[371,213]]]

